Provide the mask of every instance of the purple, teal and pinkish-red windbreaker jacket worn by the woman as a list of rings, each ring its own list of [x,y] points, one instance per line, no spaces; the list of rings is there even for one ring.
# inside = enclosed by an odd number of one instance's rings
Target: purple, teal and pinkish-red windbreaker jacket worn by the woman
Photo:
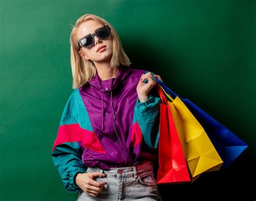
[[[120,65],[116,78],[102,81],[96,73],[72,91],[51,154],[67,191],[80,190],[74,177],[87,167],[131,167],[157,159],[161,100],[156,86],[142,103],[136,91],[147,72]]]

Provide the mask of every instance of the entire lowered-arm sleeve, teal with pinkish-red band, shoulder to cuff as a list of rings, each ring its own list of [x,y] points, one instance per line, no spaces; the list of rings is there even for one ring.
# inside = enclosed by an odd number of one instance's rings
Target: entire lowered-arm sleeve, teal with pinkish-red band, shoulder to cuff
[[[76,92],[76,91],[75,91]],[[85,173],[87,167],[82,161],[82,139],[77,129],[79,118],[75,92],[70,96],[65,105],[60,120],[58,134],[52,148],[51,157],[62,179],[62,184],[68,192],[76,193],[80,190],[74,178],[77,173]],[[73,139],[76,136],[76,139]]]

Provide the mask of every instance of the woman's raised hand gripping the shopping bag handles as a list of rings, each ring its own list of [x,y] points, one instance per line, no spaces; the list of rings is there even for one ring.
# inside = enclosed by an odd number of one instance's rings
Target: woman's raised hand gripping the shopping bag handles
[[[155,74],[154,77],[158,78],[158,80],[163,82],[159,75]],[[144,83],[145,79],[147,79],[147,81],[148,81],[147,83]],[[140,102],[144,102],[149,98],[148,94],[149,94],[150,90],[154,87],[154,85],[156,85],[156,84],[157,84],[157,82],[154,80],[151,72],[142,74],[142,76],[140,76],[140,81],[136,88]]]

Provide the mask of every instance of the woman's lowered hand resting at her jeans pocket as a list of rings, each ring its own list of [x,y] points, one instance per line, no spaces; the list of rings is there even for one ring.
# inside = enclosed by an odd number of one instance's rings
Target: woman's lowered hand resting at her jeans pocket
[[[90,196],[96,197],[103,189],[106,182],[97,182],[93,178],[98,177],[98,172],[93,173],[78,173],[75,177],[75,183]],[[106,174],[102,174],[106,177]]]

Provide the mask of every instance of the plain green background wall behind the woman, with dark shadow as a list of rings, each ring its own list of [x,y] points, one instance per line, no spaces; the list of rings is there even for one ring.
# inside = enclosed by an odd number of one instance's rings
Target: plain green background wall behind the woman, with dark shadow
[[[255,2],[0,0],[0,200],[77,198],[51,148],[72,92],[71,24],[85,13],[116,28],[134,67],[160,75],[249,145],[227,170],[159,186],[163,200],[255,199]]]

